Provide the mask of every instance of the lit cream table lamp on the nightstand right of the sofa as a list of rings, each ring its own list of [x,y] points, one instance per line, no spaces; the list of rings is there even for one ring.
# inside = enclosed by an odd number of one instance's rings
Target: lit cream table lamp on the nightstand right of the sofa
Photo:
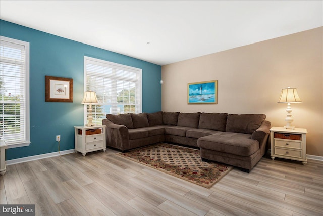
[[[281,96],[279,98],[279,101],[277,103],[287,103],[287,117],[285,118],[286,126],[284,126],[285,129],[295,129],[294,126],[292,126],[292,122],[294,119],[292,118],[292,108],[291,103],[302,103],[300,97],[298,96],[297,89],[296,88],[285,88],[282,89]]]

